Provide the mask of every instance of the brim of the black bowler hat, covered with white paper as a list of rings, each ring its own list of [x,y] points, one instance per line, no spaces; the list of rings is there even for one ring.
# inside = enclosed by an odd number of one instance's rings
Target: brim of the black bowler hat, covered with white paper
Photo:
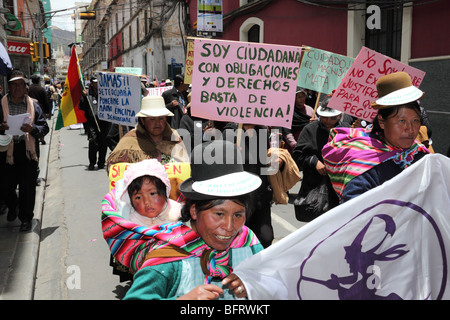
[[[248,194],[258,189],[261,183],[257,175],[243,171],[204,181],[189,178],[181,183],[179,190],[188,199],[209,200]]]

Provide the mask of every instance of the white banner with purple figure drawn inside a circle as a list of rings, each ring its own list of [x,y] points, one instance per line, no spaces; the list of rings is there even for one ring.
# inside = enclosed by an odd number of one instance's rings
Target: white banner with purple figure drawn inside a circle
[[[250,299],[450,298],[450,159],[432,154],[237,266]]]

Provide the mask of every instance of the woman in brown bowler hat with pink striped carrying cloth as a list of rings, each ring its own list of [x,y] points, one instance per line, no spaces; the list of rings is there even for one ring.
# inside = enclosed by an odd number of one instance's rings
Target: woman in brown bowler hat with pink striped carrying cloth
[[[341,203],[381,185],[429,153],[416,140],[421,126],[417,101],[425,93],[412,85],[406,72],[382,76],[376,85],[373,126],[335,128],[322,149]]]

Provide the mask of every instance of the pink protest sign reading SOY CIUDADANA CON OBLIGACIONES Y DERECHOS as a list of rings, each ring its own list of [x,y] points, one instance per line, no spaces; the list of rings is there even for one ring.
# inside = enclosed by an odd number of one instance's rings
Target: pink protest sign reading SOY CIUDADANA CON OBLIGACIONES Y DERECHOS
[[[290,128],[301,47],[194,40],[191,114]]]

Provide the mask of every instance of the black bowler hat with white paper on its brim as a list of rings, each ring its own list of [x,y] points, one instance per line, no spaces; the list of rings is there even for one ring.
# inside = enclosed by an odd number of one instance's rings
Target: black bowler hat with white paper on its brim
[[[191,177],[179,186],[192,200],[231,198],[256,190],[261,179],[244,171],[236,145],[214,140],[196,146],[191,153]]]

